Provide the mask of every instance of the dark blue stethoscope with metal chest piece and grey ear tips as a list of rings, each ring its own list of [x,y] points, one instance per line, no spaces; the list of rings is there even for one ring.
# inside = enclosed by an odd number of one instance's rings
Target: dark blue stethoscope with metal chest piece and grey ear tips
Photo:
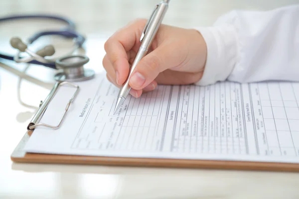
[[[72,55],[72,53],[82,47],[85,37],[75,31],[75,23],[71,20],[53,15],[15,15],[0,18],[0,22],[12,19],[42,18],[59,20],[67,24],[67,26],[59,31],[43,31],[32,35],[27,44],[18,37],[10,39],[10,45],[17,49],[18,52],[14,56],[0,54],[0,58],[12,60],[17,63],[37,64],[52,69],[62,69],[62,72],[54,76],[56,81],[78,82],[89,80],[94,77],[95,72],[91,69],[84,69],[84,65],[89,62],[89,58],[85,55]],[[32,44],[38,38],[44,35],[58,35],[66,38],[73,38],[74,45],[70,53],[59,58],[45,58],[55,53],[53,45],[44,46],[42,49],[34,52],[28,48],[28,44]],[[20,53],[25,52],[27,57],[20,57]]]

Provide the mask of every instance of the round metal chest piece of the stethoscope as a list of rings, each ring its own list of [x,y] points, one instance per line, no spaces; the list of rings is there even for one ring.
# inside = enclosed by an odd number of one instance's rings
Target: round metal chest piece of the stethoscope
[[[84,64],[89,62],[89,58],[83,55],[71,55],[56,60],[57,69],[62,69],[61,73],[55,75],[58,82],[79,82],[92,79],[94,70],[84,69]]]

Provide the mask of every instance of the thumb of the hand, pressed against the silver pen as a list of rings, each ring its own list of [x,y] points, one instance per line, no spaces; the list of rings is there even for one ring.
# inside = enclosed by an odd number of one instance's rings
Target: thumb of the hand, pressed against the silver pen
[[[129,84],[132,89],[140,90],[148,86],[160,72],[171,66],[173,59],[167,47],[159,46],[141,59],[132,73]]]

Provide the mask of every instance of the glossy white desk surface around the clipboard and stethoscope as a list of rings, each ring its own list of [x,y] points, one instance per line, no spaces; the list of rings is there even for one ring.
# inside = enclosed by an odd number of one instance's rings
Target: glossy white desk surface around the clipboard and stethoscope
[[[186,2],[190,2],[187,4]],[[181,27],[210,25],[220,14],[238,8],[269,9],[298,0],[172,1],[165,23]],[[0,15],[46,12],[68,16],[87,35],[87,67],[103,72],[103,44],[107,37],[137,17],[148,17],[155,0],[2,0]],[[133,8],[132,5],[134,4]],[[132,11],[133,10],[133,11]],[[109,20],[108,20],[109,18]],[[10,36],[27,38],[39,29],[57,28],[54,22],[17,21],[0,24],[0,52],[15,52]],[[71,46],[53,42],[58,54]],[[38,45],[34,47],[38,48]],[[5,62],[0,64],[0,198],[11,199],[298,199],[299,173],[157,169],[78,165],[14,164],[10,154],[26,125],[51,89],[54,72],[44,67]],[[28,75],[29,74],[29,75]]]

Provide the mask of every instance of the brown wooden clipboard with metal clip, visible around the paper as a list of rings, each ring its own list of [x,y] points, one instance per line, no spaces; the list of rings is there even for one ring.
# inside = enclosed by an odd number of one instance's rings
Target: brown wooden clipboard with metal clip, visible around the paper
[[[57,126],[38,123],[54,97],[59,87],[70,85],[76,88],[73,97],[68,101],[66,108]],[[158,167],[158,168],[185,168],[185,169],[217,169],[217,170],[243,170],[243,171],[275,171],[275,172],[299,172],[298,163],[276,162],[250,162],[250,161],[224,161],[224,160],[190,160],[190,159],[158,159],[158,158],[125,158],[125,157],[101,157],[101,156],[77,156],[26,153],[23,148],[34,133],[36,126],[44,125],[49,128],[59,128],[66,116],[68,107],[75,99],[79,86],[70,82],[57,82],[46,99],[41,103],[27,130],[11,153],[10,159],[15,163],[40,163],[40,164],[77,164],[77,165],[102,165],[102,166],[130,166],[130,167]]]

